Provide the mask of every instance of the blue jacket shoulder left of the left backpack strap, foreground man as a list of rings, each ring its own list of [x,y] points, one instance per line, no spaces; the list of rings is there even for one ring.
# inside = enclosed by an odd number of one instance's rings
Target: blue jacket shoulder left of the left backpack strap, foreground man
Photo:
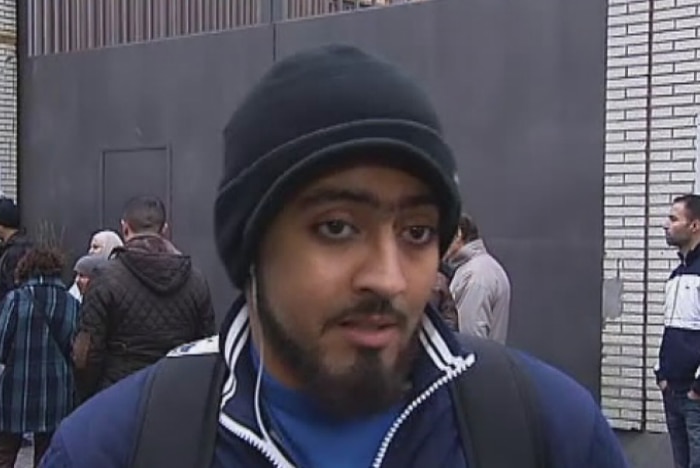
[[[127,467],[139,428],[139,407],[150,366],[117,382],[61,423],[42,466]]]

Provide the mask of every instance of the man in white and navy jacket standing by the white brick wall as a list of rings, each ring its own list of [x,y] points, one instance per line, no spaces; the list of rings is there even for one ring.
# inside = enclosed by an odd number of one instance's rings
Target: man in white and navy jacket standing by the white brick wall
[[[666,283],[664,334],[655,369],[678,468],[700,467],[700,196],[673,200],[663,225],[680,265]]]

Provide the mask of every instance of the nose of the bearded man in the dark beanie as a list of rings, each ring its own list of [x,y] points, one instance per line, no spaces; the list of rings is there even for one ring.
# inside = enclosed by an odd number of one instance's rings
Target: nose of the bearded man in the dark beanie
[[[355,289],[371,291],[387,299],[405,292],[408,285],[401,256],[393,229],[378,236],[366,250],[362,265],[355,274]]]

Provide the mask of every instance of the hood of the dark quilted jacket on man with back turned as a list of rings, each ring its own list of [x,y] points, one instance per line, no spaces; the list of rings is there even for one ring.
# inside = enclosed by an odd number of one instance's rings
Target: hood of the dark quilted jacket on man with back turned
[[[158,294],[180,289],[192,274],[192,259],[157,235],[136,236],[115,248],[112,255],[141,284]]]

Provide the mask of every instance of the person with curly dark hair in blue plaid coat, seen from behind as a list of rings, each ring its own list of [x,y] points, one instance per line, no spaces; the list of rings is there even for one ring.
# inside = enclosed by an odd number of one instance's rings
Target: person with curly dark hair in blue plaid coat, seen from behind
[[[78,301],[60,279],[58,251],[33,248],[16,270],[18,287],[0,312],[0,468],[12,468],[22,435],[34,435],[34,463],[75,405],[71,343]]]

